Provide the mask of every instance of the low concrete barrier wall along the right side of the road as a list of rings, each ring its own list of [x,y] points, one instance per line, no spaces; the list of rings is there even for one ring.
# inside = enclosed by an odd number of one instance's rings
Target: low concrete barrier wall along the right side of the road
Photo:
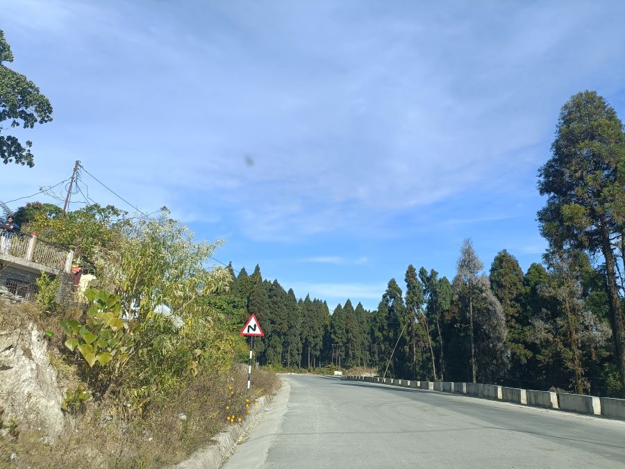
[[[343,380],[365,383],[390,384],[403,388],[464,394],[482,399],[500,400],[528,406],[547,407],[562,411],[603,415],[625,420],[625,400],[611,397],[596,397],[579,394],[555,393],[519,388],[507,388],[497,384],[452,383],[450,381],[410,381],[408,379],[380,378],[369,376],[344,376]]]

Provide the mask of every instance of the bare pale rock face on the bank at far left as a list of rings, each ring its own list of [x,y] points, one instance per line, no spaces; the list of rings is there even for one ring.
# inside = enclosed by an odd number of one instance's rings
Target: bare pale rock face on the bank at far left
[[[63,395],[47,354],[47,340],[34,324],[0,331],[0,406],[4,419],[41,427],[53,436],[64,425]]]

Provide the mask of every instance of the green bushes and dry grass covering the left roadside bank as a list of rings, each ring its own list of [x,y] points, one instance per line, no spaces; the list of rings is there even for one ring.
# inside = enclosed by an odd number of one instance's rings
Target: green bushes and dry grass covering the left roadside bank
[[[240,305],[228,297],[233,279],[227,269],[207,268],[220,242],[196,242],[167,211],[121,223],[98,213],[92,206],[65,218],[31,214],[30,227],[57,242],[86,248],[100,238],[78,258],[99,283],[84,293],[84,307],[56,303],[58,280],[42,275],[36,306],[0,314],[0,329],[34,321],[47,331],[51,363],[67,385],[62,408],[76,422],[51,446],[17,422],[20,431],[0,446],[25,465],[171,465],[279,386],[274,373],[256,370],[247,391],[247,367],[235,366],[246,345]]]

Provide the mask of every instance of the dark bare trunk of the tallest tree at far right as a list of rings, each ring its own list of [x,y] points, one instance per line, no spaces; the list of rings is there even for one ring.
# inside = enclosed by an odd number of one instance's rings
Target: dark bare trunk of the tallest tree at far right
[[[619,288],[617,287],[614,253],[610,245],[610,233],[605,218],[601,220],[601,240],[603,257],[606,258],[606,274],[608,283],[608,295],[610,297],[610,324],[612,325],[612,336],[616,352],[617,367],[621,378],[621,395],[625,397],[625,332],[623,328],[623,315],[621,313],[621,302],[619,299]]]

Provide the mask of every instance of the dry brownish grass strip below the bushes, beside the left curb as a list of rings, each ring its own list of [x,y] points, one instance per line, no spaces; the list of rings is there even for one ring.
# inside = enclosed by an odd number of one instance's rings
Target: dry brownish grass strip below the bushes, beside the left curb
[[[231,420],[243,420],[257,397],[272,395],[279,386],[275,373],[254,370],[248,394],[247,368],[235,365],[219,377],[199,375],[176,395],[153,404],[147,415],[128,418],[115,402],[89,404],[53,442],[25,428],[4,431],[0,467],[172,466],[210,444]]]

